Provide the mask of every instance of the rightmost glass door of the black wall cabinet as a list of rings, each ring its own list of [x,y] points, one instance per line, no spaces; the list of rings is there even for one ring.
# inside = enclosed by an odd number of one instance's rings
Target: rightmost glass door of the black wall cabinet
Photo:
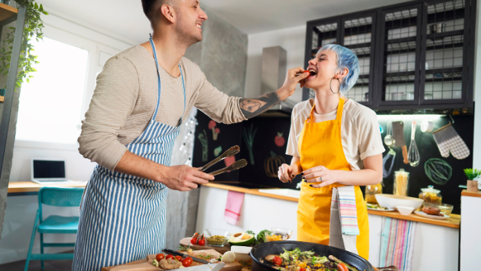
[[[468,43],[464,37],[469,35],[466,17],[469,18],[469,8],[464,0],[436,1],[424,7],[422,104],[466,102],[469,87],[466,59],[469,56],[464,53]]]

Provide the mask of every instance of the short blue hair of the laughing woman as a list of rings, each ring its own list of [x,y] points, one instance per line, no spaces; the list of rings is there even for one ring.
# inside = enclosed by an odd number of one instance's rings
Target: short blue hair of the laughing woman
[[[344,95],[344,93],[348,92],[350,88],[356,84],[357,77],[359,77],[359,61],[357,60],[357,56],[352,53],[352,50],[338,44],[326,44],[322,46],[317,53],[321,52],[321,50],[332,50],[332,52],[336,53],[336,72],[342,71],[344,68],[348,69],[348,75],[340,80],[341,86],[339,86],[339,93]]]

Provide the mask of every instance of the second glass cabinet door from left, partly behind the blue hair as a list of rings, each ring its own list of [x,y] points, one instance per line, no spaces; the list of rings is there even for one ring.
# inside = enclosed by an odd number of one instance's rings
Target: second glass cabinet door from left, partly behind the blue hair
[[[364,105],[372,104],[375,18],[372,12],[345,17],[341,23],[341,45],[352,50],[359,60],[359,78],[345,96]]]

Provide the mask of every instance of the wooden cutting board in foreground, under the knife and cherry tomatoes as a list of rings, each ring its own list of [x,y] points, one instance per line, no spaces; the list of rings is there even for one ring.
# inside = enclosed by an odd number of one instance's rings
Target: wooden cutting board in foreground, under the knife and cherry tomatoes
[[[198,255],[213,255],[211,259],[218,259],[223,254],[220,254],[216,250],[196,250],[191,253],[191,256],[200,258]],[[106,268],[102,268],[102,271],[117,271],[117,270],[130,270],[130,271],[162,271],[164,269],[158,268],[152,265],[152,261],[155,259],[155,254],[147,255],[145,259],[133,261],[131,263],[124,263],[122,265],[114,265]],[[201,258],[202,259],[202,258]],[[194,261],[190,266],[202,265]],[[234,261],[234,263],[226,263],[220,270],[222,271],[239,271],[242,269],[241,263]]]

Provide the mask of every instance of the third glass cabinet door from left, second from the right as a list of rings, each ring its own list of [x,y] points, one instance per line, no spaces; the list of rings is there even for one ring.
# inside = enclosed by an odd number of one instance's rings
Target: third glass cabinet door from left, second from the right
[[[421,4],[381,12],[378,104],[418,103]]]

